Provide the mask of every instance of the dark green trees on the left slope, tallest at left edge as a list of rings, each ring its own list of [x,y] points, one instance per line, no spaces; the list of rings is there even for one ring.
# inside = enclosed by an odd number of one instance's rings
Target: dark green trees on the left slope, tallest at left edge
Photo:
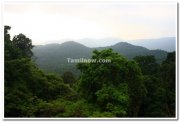
[[[30,58],[33,46],[29,38],[20,34],[12,41],[8,33],[10,27],[4,29],[5,117],[56,115],[52,111],[58,110],[51,102],[56,99],[74,100],[76,92],[64,84],[62,78],[45,74],[37,68]]]

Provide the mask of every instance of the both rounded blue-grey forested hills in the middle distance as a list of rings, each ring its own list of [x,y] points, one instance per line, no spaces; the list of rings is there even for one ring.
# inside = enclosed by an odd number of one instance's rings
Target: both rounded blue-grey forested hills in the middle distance
[[[62,74],[65,71],[72,71],[78,74],[76,64],[67,62],[67,58],[90,58],[92,51],[112,48],[115,52],[122,54],[128,59],[139,55],[154,55],[157,62],[165,60],[167,52],[163,50],[149,50],[141,46],[135,46],[126,42],[119,42],[112,46],[89,48],[80,43],[69,41],[62,44],[47,44],[35,46],[33,53],[37,65],[49,72]]]

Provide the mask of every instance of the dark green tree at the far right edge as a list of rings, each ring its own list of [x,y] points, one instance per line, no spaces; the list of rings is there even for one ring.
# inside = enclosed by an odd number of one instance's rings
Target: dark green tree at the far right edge
[[[176,53],[168,53],[166,60],[161,65],[162,83],[166,90],[166,111],[168,116],[175,116],[175,83],[176,83]]]

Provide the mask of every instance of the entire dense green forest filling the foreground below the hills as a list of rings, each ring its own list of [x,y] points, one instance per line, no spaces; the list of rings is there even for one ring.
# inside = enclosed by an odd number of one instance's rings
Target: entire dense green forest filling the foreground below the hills
[[[127,59],[113,49],[94,50],[79,63],[80,76],[45,73],[33,60],[32,40],[4,27],[5,117],[175,117],[175,52]]]

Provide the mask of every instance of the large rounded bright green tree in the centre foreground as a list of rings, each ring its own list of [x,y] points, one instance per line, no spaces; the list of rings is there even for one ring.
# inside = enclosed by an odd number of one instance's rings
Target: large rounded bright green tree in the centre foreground
[[[92,59],[111,59],[111,63],[78,65],[82,72],[79,83],[82,95],[97,103],[101,111],[111,112],[114,116],[137,116],[146,94],[138,65],[112,49],[93,53]]]

